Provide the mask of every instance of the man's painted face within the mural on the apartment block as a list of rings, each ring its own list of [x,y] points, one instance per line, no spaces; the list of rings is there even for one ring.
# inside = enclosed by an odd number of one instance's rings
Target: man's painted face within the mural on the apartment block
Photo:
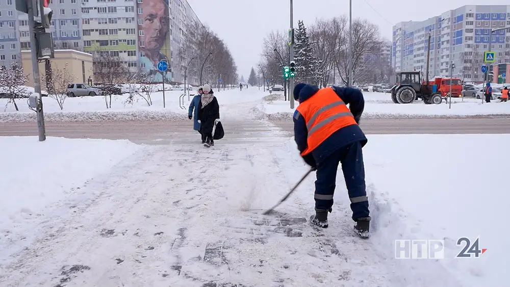
[[[145,49],[159,51],[170,29],[168,7],[164,0],[144,0],[142,8]]]

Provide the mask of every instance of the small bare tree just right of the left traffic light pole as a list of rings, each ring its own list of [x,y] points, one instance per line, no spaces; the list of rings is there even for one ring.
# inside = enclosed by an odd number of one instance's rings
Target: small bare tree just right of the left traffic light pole
[[[59,104],[60,110],[64,109],[64,102],[67,98],[67,86],[73,83],[74,75],[69,71],[68,63],[64,67],[59,68],[55,64],[52,65],[52,76],[42,76],[41,80],[48,90],[48,96],[55,99]]]

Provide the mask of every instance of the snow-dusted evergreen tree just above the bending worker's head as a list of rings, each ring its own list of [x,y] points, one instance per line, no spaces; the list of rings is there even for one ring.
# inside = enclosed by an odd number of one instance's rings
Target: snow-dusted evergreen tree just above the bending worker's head
[[[312,50],[312,43],[307,35],[303,21],[297,22],[294,34],[294,61],[296,62],[296,81],[317,85],[321,76],[317,73],[320,64]]]

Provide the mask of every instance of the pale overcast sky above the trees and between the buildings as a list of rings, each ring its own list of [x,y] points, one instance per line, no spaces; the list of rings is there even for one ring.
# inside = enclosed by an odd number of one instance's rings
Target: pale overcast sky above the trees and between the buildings
[[[271,30],[290,28],[289,0],[188,0],[202,23],[225,42],[248,79],[251,67],[260,60],[264,37]],[[504,5],[494,0],[354,0],[352,17],[377,24],[381,35],[391,39],[392,25],[420,21],[464,5]],[[313,3],[313,4],[311,4]],[[371,8],[371,7],[373,8]],[[406,9],[409,8],[409,10]],[[375,11],[374,11],[375,10]],[[349,15],[349,0],[294,0],[294,27],[297,20],[310,24],[316,18]]]

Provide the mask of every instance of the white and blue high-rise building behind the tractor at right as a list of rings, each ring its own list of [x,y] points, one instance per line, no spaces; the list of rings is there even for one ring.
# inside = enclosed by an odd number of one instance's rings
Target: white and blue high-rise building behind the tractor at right
[[[508,27],[509,29],[492,30]],[[429,77],[453,76],[481,82],[484,51],[495,51],[495,63],[510,62],[510,6],[468,5],[424,21],[393,27],[392,66],[398,71],[426,71],[430,35]],[[489,46],[491,45],[491,46]]]

